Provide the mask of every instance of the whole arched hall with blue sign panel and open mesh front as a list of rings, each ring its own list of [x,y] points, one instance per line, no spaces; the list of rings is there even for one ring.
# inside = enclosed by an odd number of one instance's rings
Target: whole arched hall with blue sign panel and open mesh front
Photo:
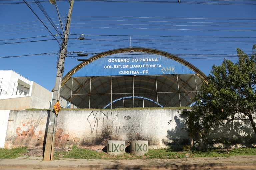
[[[186,60],[150,48],[120,48],[83,61],[62,79],[62,98],[79,108],[191,104],[206,75]]]

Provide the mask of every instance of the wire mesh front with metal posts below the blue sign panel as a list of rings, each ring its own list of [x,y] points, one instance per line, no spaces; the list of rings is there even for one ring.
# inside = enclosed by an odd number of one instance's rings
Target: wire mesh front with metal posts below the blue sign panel
[[[202,85],[195,74],[78,77],[76,81],[77,88],[66,88],[73,89],[72,104],[109,109],[189,106]]]

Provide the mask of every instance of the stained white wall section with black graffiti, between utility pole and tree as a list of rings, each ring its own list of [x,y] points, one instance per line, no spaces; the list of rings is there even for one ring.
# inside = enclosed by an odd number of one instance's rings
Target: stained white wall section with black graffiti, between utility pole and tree
[[[58,116],[57,129],[62,132],[59,137],[65,138],[60,138],[59,145],[64,146],[65,141],[90,146],[105,145],[107,140],[148,140],[151,148],[165,147],[165,143],[179,146],[188,138],[186,131],[181,130],[179,114],[180,110],[169,109],[63,110]],[[169,120],[172,121],[168,125]],[[178,136],[170,137],[170,129]],[[177,139],[180,143],[175,143]]]

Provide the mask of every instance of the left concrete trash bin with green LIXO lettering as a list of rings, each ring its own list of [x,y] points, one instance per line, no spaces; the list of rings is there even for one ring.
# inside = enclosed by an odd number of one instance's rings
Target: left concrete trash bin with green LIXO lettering
[[[125,141],[109,140],[107,142],[107,154],[121,155],[123,153],[125,153]]]

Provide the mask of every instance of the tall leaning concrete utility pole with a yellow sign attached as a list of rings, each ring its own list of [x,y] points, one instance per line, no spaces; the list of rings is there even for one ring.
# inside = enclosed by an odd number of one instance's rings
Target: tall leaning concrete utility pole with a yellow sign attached
[[[46,143],[45,143],[45,149],[44,149],[44,158],[43,158],[44,161],[53,160],[55,132],[56,132],[56,124],[57,124],[57,118],[58,118],[58,115],[55,114],[53,111],[54,111],[54,104],[60,100],[60,88],[61,88],[62,76],[64,72],[65,57],[67,55],[68,35],[69,35],[69,28],[71,23],[73,4],[74,4],[74,0],[70,1],[64,38],[61,44],[59,61],[57,63],[57,75],[56,75],[52,105],[50,110],[50,118],[48,122],[48,130],[47,130]]]

